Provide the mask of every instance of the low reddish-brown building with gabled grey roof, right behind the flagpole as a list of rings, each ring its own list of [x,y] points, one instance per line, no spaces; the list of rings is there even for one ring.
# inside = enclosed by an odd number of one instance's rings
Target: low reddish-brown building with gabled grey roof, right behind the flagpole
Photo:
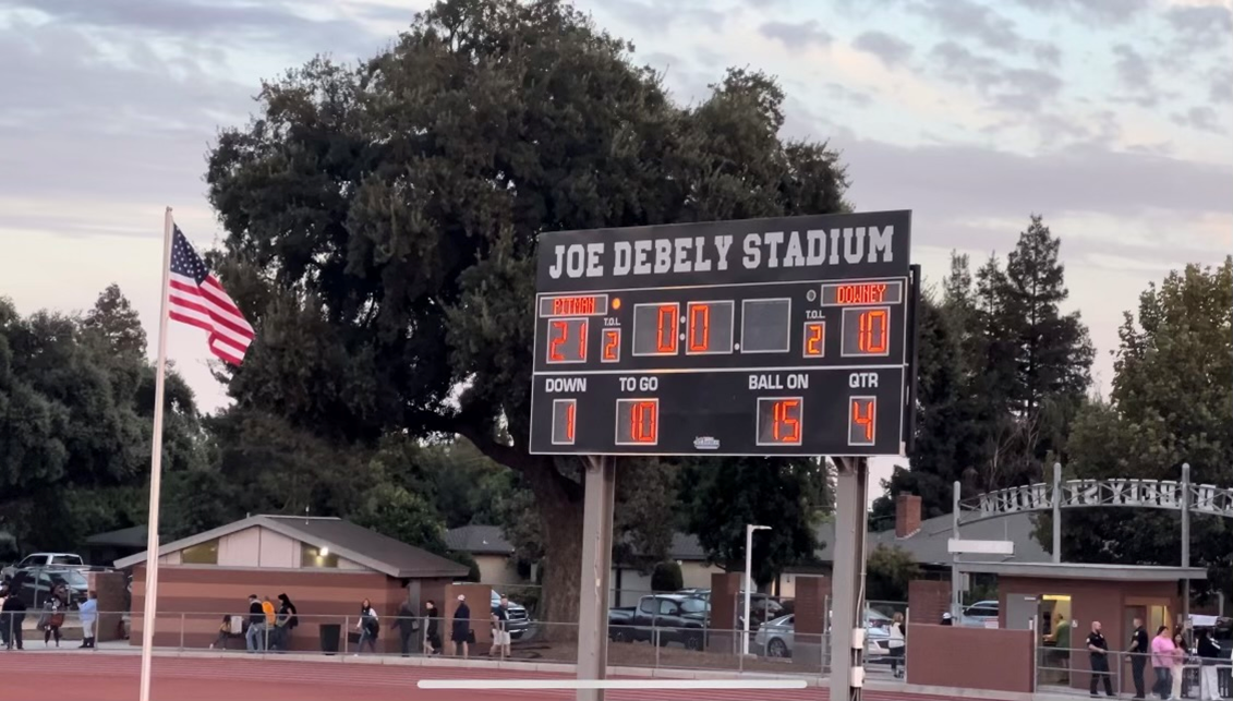
[[[116,561],[133,568],[133,644],[142,639],[145,561],[145,552]],[[248,612],[249,595],[276,602],[286,594],[300,620],[292,650],[319,650],[322,625],[354,630],[367,599],[383,621],[377,649],[393,652],[401,605],[419,611],[427,599],[441,602],[466,574],[456,562],[342,519],[252,516],[159,548],[154,644],[206,648],[224,616]]]

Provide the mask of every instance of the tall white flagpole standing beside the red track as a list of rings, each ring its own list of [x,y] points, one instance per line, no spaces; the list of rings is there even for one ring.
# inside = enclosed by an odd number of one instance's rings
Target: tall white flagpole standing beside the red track
[[[171,292],[171,208],[163,218],[163,294],[158,319],[158,361],[154,375],[154,437],[150,444],[150,513],[145,536],[145,612],[142,615],[142,686],[139,701],[150,699],[154,654],[154,611],[158,606],[158,505],[163,487],[163,386],[166,375],[168,298]]]

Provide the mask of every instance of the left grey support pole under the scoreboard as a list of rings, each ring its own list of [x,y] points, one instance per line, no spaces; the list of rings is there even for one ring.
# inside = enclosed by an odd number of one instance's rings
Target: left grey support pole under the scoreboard
[[[578,605],[580,681],[608,675],[608,578],[613,557],[616,458],[587,456],[582,511],[582,598]],[[603,701],[602,689],[580,689],[578,701]]]

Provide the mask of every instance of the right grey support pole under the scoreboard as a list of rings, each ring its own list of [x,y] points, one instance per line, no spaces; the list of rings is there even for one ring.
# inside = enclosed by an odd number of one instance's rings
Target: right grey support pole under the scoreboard
[[[869,463],[863,457],[835,458],[835,580],[831,586],[831,701],[859,701],[864,685],[864,540],[868,526]],[[853,670],[859,673],[853,674]]]

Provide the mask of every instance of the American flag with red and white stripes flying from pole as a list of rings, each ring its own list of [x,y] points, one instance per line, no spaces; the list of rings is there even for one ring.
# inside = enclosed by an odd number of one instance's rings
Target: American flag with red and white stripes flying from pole
[[[210,333],[210,352],[232,365],[244,361],[253,326],[175,227],[171,239],[171,319]]]

